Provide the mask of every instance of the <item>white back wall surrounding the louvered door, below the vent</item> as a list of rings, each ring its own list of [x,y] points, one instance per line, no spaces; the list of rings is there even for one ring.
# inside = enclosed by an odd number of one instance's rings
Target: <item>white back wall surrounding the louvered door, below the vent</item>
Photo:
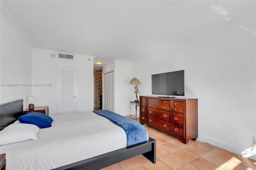
[[[52,84],[50,87],[32,87],[32,95],[36,96],[35,106],[49,106],[49,115],[56,115],[57,66],[74,67],[77,68],[77,113],[93,111],[94,57],[74,55],[74,60],[51,58],[50,54],[56,52],[42,49],[32,52],[32,82]]]

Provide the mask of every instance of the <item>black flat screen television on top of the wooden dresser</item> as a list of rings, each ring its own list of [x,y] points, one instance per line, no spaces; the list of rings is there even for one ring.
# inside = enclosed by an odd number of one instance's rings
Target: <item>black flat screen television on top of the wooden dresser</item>
[[[184,70],[153,74],[152,95],[184,96]]]

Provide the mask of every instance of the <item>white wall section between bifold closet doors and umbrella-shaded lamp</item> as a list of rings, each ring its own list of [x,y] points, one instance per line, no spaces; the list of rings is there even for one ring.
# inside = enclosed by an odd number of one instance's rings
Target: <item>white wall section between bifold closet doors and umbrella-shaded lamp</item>
[[[130,115],[130,101],[133,99],[132,63],[115,59],[102,68],[103,74],[114,71],[114,112],[120,115]],[[103,79],[104,81],[104,79]],[[135,96],[135,95],[134,95]],[[133,99],[134,100],[134,99]],[[135,113],[135,111],[133,111]]]

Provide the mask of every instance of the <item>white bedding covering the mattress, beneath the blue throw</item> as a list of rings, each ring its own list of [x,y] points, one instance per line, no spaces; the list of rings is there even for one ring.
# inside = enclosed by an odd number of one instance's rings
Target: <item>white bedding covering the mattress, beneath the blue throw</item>
[[[51,116],[52,127],[40,129],[38,140],[0,146],[7,170],[46,170],[126,147],[126,133],[95,113]]]

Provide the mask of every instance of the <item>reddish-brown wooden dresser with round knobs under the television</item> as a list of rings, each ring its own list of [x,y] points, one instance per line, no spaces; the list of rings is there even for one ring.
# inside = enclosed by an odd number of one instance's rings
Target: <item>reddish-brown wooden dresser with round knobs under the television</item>
[[[179,138],[198,137],[197,99],[140,96],[140,123]]]

